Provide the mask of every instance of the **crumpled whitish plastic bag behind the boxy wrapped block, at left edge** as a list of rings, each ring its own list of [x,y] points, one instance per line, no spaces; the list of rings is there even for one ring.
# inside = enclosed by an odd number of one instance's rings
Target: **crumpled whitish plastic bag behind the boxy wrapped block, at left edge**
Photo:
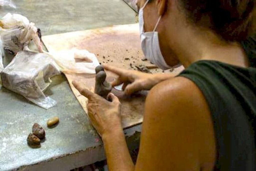
[[[38,51],[43,52],[40,29],[35,27],[35,23],[19,14],[6,14],[0,20],[0,35],[4,49],[12,54],[21,50],[29,50],[28,44],[31,40],[36,44]]]

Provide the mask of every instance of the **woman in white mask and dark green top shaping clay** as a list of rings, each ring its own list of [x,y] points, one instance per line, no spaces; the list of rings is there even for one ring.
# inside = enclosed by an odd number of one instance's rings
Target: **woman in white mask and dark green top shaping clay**
[[[138,0],[145,56],[178,76],[104,66],[125,93],[151,89],[134,166],[120,102],[74,86],[104,142],[109,170],[255,170],[256,68],[239,43],[255,27],[254,0]],[[153,31],[153,32],[152,32]],[[255,67],[255,66],[254,66]]]

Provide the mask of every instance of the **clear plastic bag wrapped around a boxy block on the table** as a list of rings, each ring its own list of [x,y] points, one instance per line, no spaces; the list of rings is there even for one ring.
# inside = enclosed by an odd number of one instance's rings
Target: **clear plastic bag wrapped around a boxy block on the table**
[[[20,51],[1,73],[3,86],[38,106],[49,109],[56,101],[43,91],[50,85],[50,78],[60,72],[56,63],[44,53]]]

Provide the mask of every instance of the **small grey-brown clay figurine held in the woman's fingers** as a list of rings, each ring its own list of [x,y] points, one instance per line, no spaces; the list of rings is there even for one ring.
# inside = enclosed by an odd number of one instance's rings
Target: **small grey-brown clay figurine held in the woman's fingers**
[[[95,78],[96,82],[95,82],[94,93],[106,99],[106,97],[108,96],[108,94],[112,89],[112,85],[106,81],[107,75],[104,68],[101,65],[95,68],[95,72],[96,72],[96,78]]]

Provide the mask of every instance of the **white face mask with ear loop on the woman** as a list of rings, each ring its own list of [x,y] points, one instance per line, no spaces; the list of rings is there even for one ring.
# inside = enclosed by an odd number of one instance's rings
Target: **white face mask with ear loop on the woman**
[[[161,53],[161,49],[159,46],[158,32],[156,32],[156,28],[161,19],[161,16],[159,17],[153,32],[144,32],[143,9],[147,5],[148,1],[149,0],[147,0],[145,5],[139,11],[139,25],[142,51],[145,57],[152,63],[157,65],[157,67],[163,70],[167,70],[173,67],[170,67],[164,60],[164,57]]]

